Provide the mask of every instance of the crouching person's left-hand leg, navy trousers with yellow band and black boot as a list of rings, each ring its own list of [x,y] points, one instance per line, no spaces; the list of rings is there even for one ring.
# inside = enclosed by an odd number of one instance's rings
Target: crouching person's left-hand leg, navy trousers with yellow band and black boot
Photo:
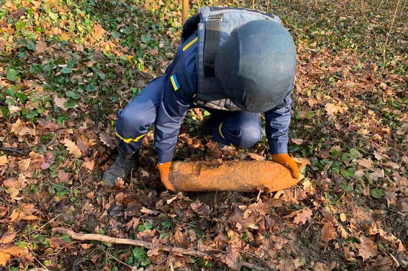
[[[156,121],[163,88],[164,77],[159,77],[151,81],[123,110],[119,110],[115,128],[119,155],[102,178],[109,186],[114,186],[118,177],[123,180],[129,177],[137,166],[143,137]]]

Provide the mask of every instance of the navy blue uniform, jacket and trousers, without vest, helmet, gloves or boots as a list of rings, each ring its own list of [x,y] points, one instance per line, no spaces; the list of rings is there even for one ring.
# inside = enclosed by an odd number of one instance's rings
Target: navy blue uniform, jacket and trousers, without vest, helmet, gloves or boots
[[[197,36],[193,34],[178,49],[166,74],[151,81],[138,96],[118,112],[116,136],[119,148],[133,153],[152,124],[158,162],[170,162],[174,155],[180,126],[187,110],[197,107],[197,72],[195,55]],[[265,112],[266,135],[271,154],[286,154],[291,111],[291,92],[284,101]],[[259,113],[208,109],[215,117],[216,141],[239,148],[249,148],[262,139]]]

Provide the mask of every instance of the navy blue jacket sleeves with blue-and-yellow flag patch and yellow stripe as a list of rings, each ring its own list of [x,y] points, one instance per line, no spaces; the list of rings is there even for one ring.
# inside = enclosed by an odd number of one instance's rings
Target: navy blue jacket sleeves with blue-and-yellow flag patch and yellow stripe
[[[159,163],[172,160],[180,126],[187,110],[194,105],[197,94],[195,53],[197,36],[193,34],[177,49],[165,74],[165,91],[157,111],[155,145]],[[266,136],[271,154],[288,152],[288,131],[291,117],[291,92],[276,108],[265,112]]]

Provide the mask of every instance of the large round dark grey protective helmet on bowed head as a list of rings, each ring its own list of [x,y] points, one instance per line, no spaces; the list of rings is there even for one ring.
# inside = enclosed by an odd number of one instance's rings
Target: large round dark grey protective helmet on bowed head
[[[236,27],[217,51],[214,71],[225,96],[243,110],[266,112],[283,101],[295,77],[296,48],[271,20]]]

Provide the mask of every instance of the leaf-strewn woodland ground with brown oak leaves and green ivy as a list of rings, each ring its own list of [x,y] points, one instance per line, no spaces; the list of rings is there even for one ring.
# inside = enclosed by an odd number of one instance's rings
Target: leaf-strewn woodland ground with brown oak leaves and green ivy
[[[191,1],[190,15],[204,5],[273,13],[294,37],[289,152],[309,165],[297,186],[259,195],[165,191],[154,131],[132,179],[100,183],[115,113],[180,44],[181,1],[0,2],[1,268],[407,268],[406,2]],[[265,138],[214,148],[198,132],[206,114],[189,112],[175,160],[269,159]],[[81,241],[57,227],[152,245]]]

